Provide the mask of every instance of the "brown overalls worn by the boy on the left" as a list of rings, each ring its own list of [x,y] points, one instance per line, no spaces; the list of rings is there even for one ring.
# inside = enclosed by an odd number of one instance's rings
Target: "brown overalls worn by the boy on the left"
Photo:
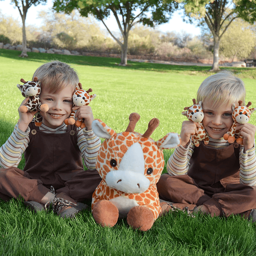
[[[0,198],[22,196],[41,202],[53,186],[76,201],[92,199],[101,181],[97,170],[84,170],[77,146],[77,128],[70,125],[64,134],[46,134],[30,123],[30,142],[24,152],[24,170],[0,169]]]

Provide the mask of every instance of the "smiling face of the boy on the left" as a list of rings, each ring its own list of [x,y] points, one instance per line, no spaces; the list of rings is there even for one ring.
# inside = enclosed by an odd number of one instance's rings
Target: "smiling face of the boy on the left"
[[[73,92],[74,89],[71,86],[56,93],[50,93],[42,88],[39,96],[41,103],[49,106],[47,112],[40,112],[44,125],[55,129],[61,126],[66,118],[69,118],[73,107]]]

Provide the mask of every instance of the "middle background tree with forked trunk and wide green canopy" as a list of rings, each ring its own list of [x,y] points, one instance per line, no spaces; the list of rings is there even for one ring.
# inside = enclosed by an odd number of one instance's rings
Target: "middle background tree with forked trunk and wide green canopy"
[[[127,64],[127,49],[129,32],[137,23],[154,26],[167,22],[177,3],[170,0],[163,3],[162,0],[55,0],[54,8],[57,11],[70,13],[78,9],[82,16],[93,14],[100,20],[110,35],[121,46],[121,64]],[[111,28],[106,26],[105,20],[112,13],[118,24],[122,40],[117,38]]]

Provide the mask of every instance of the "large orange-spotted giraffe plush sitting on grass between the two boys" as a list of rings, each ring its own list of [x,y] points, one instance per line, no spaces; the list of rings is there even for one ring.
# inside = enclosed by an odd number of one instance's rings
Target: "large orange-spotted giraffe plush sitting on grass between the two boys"
[[[149,230],[161,207],[156,190],[162,170],[162,149],[180,144],[176,133],[168,133],[155,142],[150,135],[159,124],[153,118],[144,134],[134,132],[140,116],[132,113],[125,132],[116,133],[101,120],[92,122],[92,130],[105,138],[96,161],[102,181],[92,196],[92,214],[101,226],[114,226],[118,218],[141,231]]]

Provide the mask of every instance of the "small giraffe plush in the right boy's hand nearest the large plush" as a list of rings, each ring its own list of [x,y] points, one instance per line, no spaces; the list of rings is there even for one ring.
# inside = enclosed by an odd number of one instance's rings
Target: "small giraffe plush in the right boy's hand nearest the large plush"
[[[204,111],[202,109],[202,102],[200,101],[199,104],[196,104],[196,99],[193,99],[193,105],[190,107],[184,108],[182,115],[186,116],[188,120],[198,123],[199,125],[197,126],[197,133],[194,134],[191,137],[192,142],[194,142],[194,145],[198,147],[200,145],[200,141],[204,141],[204,144],[207,145],[209,143],[209,138],[204,130],[204,126],[202,123],[202,120],[204,118]]]

